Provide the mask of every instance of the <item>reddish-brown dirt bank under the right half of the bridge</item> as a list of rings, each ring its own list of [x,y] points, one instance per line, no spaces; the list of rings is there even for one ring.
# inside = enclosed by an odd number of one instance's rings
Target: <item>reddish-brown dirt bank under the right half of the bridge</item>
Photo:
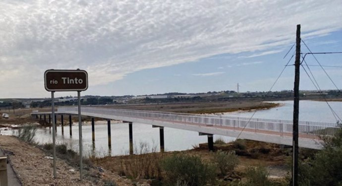
[[[247,140],[246,143],[246,149],[243,152],[240,152],[245,155],[238,155],[239,164],[234,169],[234,172],[237,173],[237,175],[243,175],[245,169],[249,166],[262,166],[267,169],[269,172],[269,178],[270,179],[281,179],[283,180],[285,176],[288,174],[288,168],[286,167],[286,156],[284,155],[284,150],[280,148],[277,144],[271,144],[271,143],[264,143],[264,142],[256,142],[256,141],[250,141]],[[258,157],[250,157],[248,155],[247,151],[249,149],[253,149],[253,146],[256,147],[254,149],[262,147],[263,149],[269,149],[270,151],[266,154],[258,153]],[[215,149],[222,149],[225,151],[229,150],[236,150],[233,148],[230,148],[231,144],[224,144],[224,145],[215,145]],[[236,151],[237,152],[237,151]],[[200,144],[199,147],[196,147],[191,150],[184,150],[184,151],[172,151],[172,152],[165,152],[165,153],[151,153],[148,154],[149,158],[154,159],[161,159],[167,156],[171,156],[172,154],[185,154],[190,156],[198,156],[205,162],[211,162],[211,159],[213,157],[213,152],[208,151],[207,144]],[[237,152],[238,154],[238,152]],[[135,163],[130,163],[131,161],[134,162],[135,159],[138,159],[139,161],[145,162],[147,164],[153,165],[153,161],[146,160],[146,156],[144,155],[133,155],[133,156],[114,156],[114,157],[104,157],[104,158],[97,158],[94,159],[94,164],[98,166],[103,166],[107,170],[111,170],[114,172],[122,172],[122,169],[126,169],[130,171],[131,166],[135,165]],[[122,165],[126,165],[125,168],[122,167]],[[139,164],[137,164],[139,167]],[[138,169],[141,169],[139,167]],[[142,168],[144,170],[144,168]],[[133,178],[134,179],[134,178]]]

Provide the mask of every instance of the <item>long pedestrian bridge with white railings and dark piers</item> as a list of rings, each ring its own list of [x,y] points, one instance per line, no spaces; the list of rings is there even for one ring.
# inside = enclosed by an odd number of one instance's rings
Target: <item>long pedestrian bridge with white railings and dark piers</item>
[[[56,114],[70,115],[71,127],[71,115],[78,115],[78,110],[77,107],[60,107]],[[38,118],[39,115],[40,118],[42,118],[42,115],[44,115],[44,118],[45,115],[49,115],[50,118],[51,112],[36,112],[31,113],[31,115],[36,116],[36,118]],[[213,148],[213,135],[238,136],[242,139],[292,146],[292,121],[290,120],[250,119],[231,116],[182,114],[99,107],[82,107],[81,115],[103,118],[107,119],[109,122],[110,120],[127,122],[129,123],[130,139],[132,138],[132,123],[151,124],[154,127],[160,127],[161,150],[164,150],[163,127],[197,131],[200,135],[207,135],[209,148]],[[321,149],[323,142],[322,136],[332,136],[338,128],[339,126],[337,126],[336,123],[299,121],[299,147]]]

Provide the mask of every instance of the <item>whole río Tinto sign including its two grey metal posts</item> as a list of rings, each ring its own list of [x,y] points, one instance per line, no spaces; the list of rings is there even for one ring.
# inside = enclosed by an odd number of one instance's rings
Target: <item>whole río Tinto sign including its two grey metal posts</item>
[[[53,150],[54,150],[54,178],[56,178],[56,122],[55,122],[55,91],[77,91],[78,97],[78,131],[80,146],[80,180],[82,182],[82,121],[81,121],[81,91],[88,89],[88,73],[85,70],[46,70],[44,73],[44,85],[51,92],[52,121],[53,121]]]

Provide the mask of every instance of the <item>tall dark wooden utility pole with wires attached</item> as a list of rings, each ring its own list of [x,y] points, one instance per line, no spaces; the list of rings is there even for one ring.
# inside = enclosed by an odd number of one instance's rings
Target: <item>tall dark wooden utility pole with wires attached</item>
[[[295,62],[294,62],[292,186],[298,186],[299,69],[300,69],[300,24],[297,25],[297,31],[296,31],[296,57],[295,57]]]

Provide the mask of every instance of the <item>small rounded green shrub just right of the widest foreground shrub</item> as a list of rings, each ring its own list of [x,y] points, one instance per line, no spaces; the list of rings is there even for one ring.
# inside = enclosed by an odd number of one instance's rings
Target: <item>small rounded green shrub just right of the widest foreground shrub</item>
[[[212,161],[220,169],[221,175],[227,175],[229,172],[232,172],[239,162],[235,151],[225,152],[222,150],[214,153]]]

